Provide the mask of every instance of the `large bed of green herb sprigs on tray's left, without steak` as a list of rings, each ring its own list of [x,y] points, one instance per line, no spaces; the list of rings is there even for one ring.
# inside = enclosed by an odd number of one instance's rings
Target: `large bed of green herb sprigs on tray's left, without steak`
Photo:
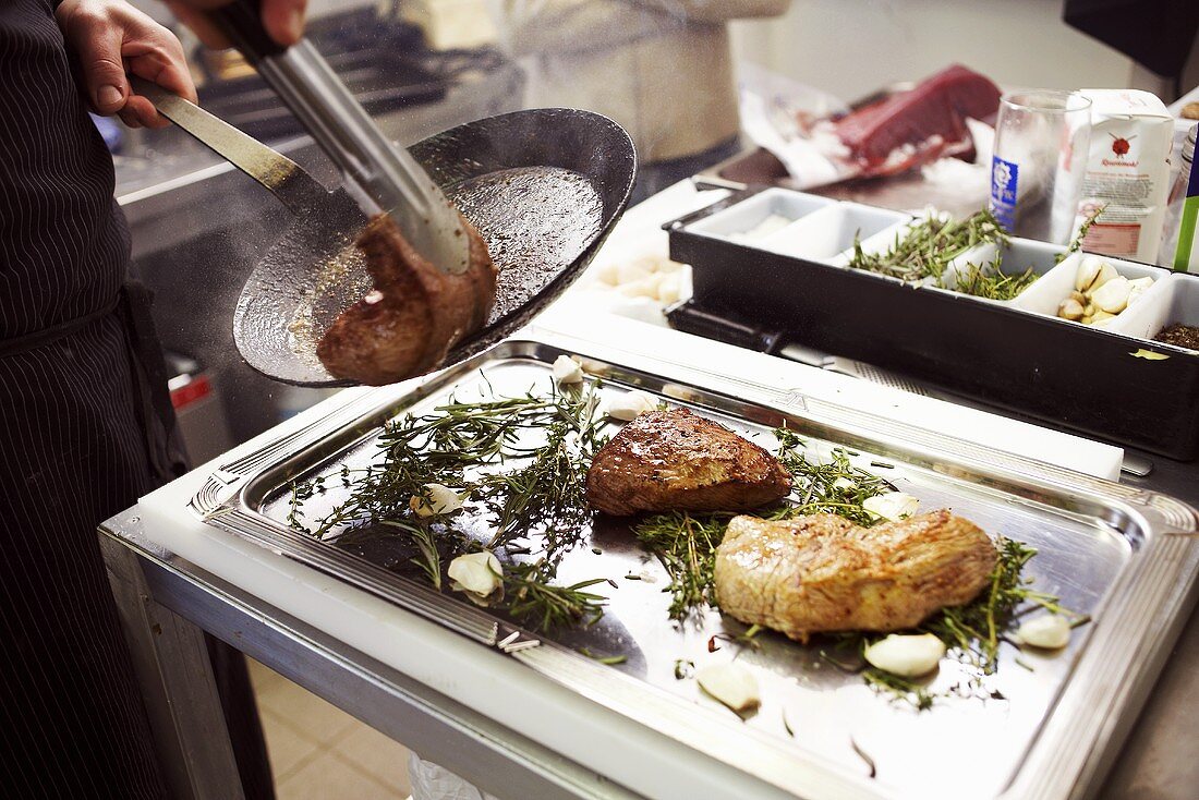
[[[374,462],[361,469],[343,465],[333,474],[348,497],[313,530],[305,501],[326,492],[332,476],[293,483],[288,524],[342,546],[404,536],[416,549],[411,563],[438,589],[452,555],[484,545],[508,559],[532,554],[535,560],[505,570],[507,610],[540,630],[594,622],[607,599],[585,589],[603,579],[571,587],[553,581],[565,553],[584,541],[591,519],[586,470],[603,445],[597,385],[554,385],[548,396],[523,397],[495,397],[487,386],[489,398],[451,398],[432,413],[385,425]],[[429,483],[465,493],[472,512],[417,515],[412,498],[427,498]],[[494,531],[484,545],[470,536],[470,521],[480,513]],[[518,541],[525,539],[538,545],[536,553]]]

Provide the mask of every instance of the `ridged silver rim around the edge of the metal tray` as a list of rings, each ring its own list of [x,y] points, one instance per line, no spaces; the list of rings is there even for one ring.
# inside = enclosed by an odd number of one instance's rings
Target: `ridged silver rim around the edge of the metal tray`
[[[308,548],[297,548],[296,542],[290,542],[287,537],[281,541],[277,535],[284,527],[271,521],[264,522],[253,511],[247,503],[247,493],[257,479],[288,463],[302,461],[303,453],[309,449],[329,437],[344,434],[348,427],[353,428],[355,423],[385,408],[392,408],[399,402],[418,402],[457,375],[474,371],[484,362],[530,357],[544,361],[532,355],[537,348],[579,353],[584,359],[602,359],[614,372],[621,368],[643,371],[643,366],[627,366],[627,356],[635,356],[637,361],[659,367],[652,374],[663,383],[679,381],[685,386],[689,383],[734,402],[799,416],[836,432],[864,435],[870,441],[878,441],[870,437],[899,439],[905,445],[915,445],[906,446],[905,450],[948,458],[963,468],[971,467],[964,463],[966,459],[977,458],[980,461],[972,467],[977,469],[981,465],[984,474],[1006,477],[1035,489],[1062,493],[1079,503],[1102,498],[1107,507],[1120,509],[1129,518],[1134,518],[1138,525],[1149,531],[1139,548],[1140,555],[1120,571],[1108,590],[1104,599],[1105,624],[1096,625],[1086,646],[1078,655],[1073,673],[1062,684],[1041,728],[1029,742],[1024,758],[1017,762],[1010,783],[998,796],[1085,796],[1093,788],[1096,777],[1109,766],[1105,763],[1107,754],[1122,744],[1135,721],[1134,711],[1144,703],[1169,645],[1186,621],[1185,612],[1195,602],[1195,577],[1199,575],[1199,539],[1194,535],[1197,512],[1163,494],[1080,475],[1022,456],[990,451],[945,434],[818,401],[800,390],[778,390],[721,375],[694,365],[644,356],[570,336],[535,333],[506,341],[438,375],[364,392],[308,426],[221,467],[192,498],[188,507],[209,524],[345,581],[348,577],[338,575],[336,564],[311,558],[305,552]],[[680,369],[682,375],[677,375]],[[713,389],[713,380],[723,384],[722,389]],[[727,409],[722,410],[728,413]],[[361,435],[367,435],[367,432],[360,432]],[[820,432],[815,435],[827,438]],[[308,545],[311,546],[311,540]],[[366,564],[356,558],[354,561],[354,566],[360,569]],[[406,610],[434,619],[481,644],[498,648],[538,675],[601,708],[655,729],[703,754],[716,757],[757,780],[803,796],[891,796],[882,786],[837,772],[811,757],[797,758],[796,747],[787,746],[777,736],[765,732],[739,727],[721,711],[695,705],[639,679],[597,664],[573,650],[543,642],[523,628],[498,622],[486,613],[465,608],[465,603],[453,603],[440,595],[430,599],[427,595],[436,594],[432,589],[375,569],[386,575],[388,583],[402,587],[403,591],[397,596],[397,593],[380,593],[378,587],[354,581],[350,583],[381,595]],[[1141,575],[1146,572],[1149,575]],[[439,599],[441,602],[436,602]],[[430,600],[432,608],[428,606]],[[1140,606],[1132,603],[1133,600],[1139,600]],[[447,620],[444,612],[447,610],[445,606],[450,604],[454,607],[450,610],[468,613],[460,619],[452,614]],[[458,609],[458,606],[464,608]],[[1127,627],[1138,632],[1132,642],[1120,637],[1126,626],[1119,622],[1125,616],[1135,618],[1132,620],[1135,626]],[[513,632],[518,634],[517,639],[499,644],[501,633],[507,636]],[[1111,655],[1122,651],[1126,652],[1123,658]],[[1138,661],[1137,656],[1146,657]],[[1122,679],[1116,691],[1111,691],[1108,682],[1098,680],[1113,670]],[[1087,675],[1093,679],[1084,681]],[[721,735],[712,735],[713,730],[721,732]],[[1079,741],[1087,746],[1078,747]],[[1064,765],[1064,760],[1068,764]]]

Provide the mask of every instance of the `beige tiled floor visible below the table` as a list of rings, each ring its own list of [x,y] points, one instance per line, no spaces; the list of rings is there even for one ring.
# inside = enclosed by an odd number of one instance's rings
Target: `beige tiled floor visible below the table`
[[[249,675],[278,800],[408,798],[403,746],[254,660]]]

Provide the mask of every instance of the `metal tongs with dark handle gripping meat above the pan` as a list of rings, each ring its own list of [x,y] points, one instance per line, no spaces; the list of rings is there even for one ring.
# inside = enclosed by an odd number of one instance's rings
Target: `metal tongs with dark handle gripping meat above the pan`
[[[434,265],[464,271],[469,241],[458,210],[379,130],[317,48],[308,40],[289,48],[275,42],[263,28],[259,0],[235,0],[210,14],[337,164],[362,211],[368,217],[386,211]]]

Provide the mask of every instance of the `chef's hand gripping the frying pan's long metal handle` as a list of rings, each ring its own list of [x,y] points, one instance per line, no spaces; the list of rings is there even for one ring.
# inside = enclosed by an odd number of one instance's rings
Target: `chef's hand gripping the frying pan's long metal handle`
[[[83,71],[88,102],[129,127],[170,125],[153,103],[133,94],[126,71],[195,102],[183,48],[169,30],[125,0],[62,0],[54,12]]]

